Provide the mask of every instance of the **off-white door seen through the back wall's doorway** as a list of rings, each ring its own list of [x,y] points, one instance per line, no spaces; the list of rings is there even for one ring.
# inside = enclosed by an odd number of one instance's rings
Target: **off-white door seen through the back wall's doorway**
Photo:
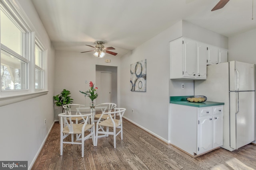
[[[96,72],[98,98],[96,104],[111,103],[111,72]]]

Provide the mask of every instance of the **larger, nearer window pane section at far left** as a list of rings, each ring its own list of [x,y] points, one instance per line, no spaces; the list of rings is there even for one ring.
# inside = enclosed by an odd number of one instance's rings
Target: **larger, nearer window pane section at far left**
[[[27,89],[27,65],[24,58],[25,32],[2,9],[1,35],[1,90]]]

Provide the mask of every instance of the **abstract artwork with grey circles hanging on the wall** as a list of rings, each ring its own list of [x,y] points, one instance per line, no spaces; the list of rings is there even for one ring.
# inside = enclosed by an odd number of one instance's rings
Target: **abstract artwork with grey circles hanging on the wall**
[[[138,61],[130,66],[130,90],[146,92],[147,59]]]

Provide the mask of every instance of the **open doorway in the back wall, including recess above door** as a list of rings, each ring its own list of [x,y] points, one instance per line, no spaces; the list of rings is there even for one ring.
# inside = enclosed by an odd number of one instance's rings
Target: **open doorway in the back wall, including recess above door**
[[[117,104],[117,67],[96,65],[96,87],[98,98],[96,104]]]

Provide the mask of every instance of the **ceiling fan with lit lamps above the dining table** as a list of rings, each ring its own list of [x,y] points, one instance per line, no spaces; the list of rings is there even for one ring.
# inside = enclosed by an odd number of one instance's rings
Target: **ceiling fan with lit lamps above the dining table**
[[[94,50],[91,50],[91,51],[96,51],[94,53],[95,57],[102,58],[102,57],[104,57],[105,53],[112,54],[112,55],[117,55],[117,53],[114,53],[112,51],[108,51],[108,50],[114,50],[115,48],[114,47],[104,47],[103,44],[105,44],[105,43],[106,43],[105,41],[99,40],[99,41],[94,42],[94,44],[96,44],[95,47],[93,47],[92,45],[87,45],[87,46],[95,48]],[[86,52],[90,52],[90,51],[84,51],[84,52],[81,52],[81,53],[86,53]]]

